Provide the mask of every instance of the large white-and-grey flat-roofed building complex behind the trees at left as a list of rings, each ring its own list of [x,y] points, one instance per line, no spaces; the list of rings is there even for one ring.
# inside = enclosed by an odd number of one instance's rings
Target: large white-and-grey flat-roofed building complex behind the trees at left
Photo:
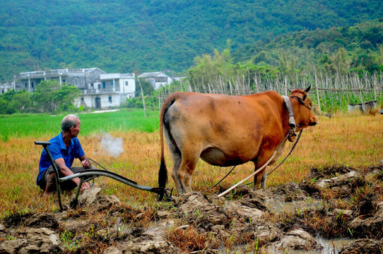
[[[109,109],[117,107],[126,98],[134,97],[134,73],[105,73],[99,68],[64,68],[51,71],[30,71],[13,76],[14,89],[34,92],[42,80],[57,80],[60,85],[75,85],[81,96],[74,99],[76,107]]]

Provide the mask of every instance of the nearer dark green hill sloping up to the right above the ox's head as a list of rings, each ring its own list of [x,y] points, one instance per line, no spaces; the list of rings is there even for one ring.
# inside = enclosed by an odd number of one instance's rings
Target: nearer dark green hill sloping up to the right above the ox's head
[[[278,35],[271,40],[239,47],[232,57],[235,63],[273,67],[287,64],[300,71],[307,71],[314,65],[321,71],[374,73],[383,70],[383,18],[353,26]],[[281,60],[283,57],[285,60]],[[343,62],[344,70],[331,69],[334,61]]]

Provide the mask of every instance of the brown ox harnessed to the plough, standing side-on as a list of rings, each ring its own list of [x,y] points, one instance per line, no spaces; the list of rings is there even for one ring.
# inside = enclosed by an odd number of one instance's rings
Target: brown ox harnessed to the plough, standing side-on
[[[306,90],[296,89],[289,96],[297,127],[295,131],[319,122],[311,111],[309,90],[310,86]],[[160,111],[159,186],[165,188],[167,182],[163,133],[174,162],[172,179],[177,192],[189,193],[199,157],[220,167],[254,162],[255,169],[259,169],[285,140],[289,131],[288,120],[283,97],[273,91],[246,96],[195,92],[169,95]],[[266,188],[265,176],[264,169],[254,176],[255,188],[259,188],[261,181],[262,187]]]

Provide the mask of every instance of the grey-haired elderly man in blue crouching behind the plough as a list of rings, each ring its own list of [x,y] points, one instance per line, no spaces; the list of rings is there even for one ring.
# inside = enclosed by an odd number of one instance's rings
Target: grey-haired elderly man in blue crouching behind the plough
[[[86,159],[85,152],[78,141],[77,135],[80,133],[80,119],[78,116],[69,114],[61,121],[61,133],[49,140],[51,145],[48,146],[49,152],[52,155],[54,163],[57,164],[60,177],[69,176],[77,173],[82,169],[91,167],[90,162]],[[73,160],[80,159],[83,167],[72,167]],[[79,178],[74,178],[64,183],[60,183],[61,190],[72,190],[80,183]],[[37,176],[37,185],[42,191],[45,191],[44,196],[49,195],[56,189],[54,181],[54,170],[47,156],[47,152],[42,150],[40,157],[39,174]],[[81,191],[89,188],[88,183],[84,182],[81,186]]]

